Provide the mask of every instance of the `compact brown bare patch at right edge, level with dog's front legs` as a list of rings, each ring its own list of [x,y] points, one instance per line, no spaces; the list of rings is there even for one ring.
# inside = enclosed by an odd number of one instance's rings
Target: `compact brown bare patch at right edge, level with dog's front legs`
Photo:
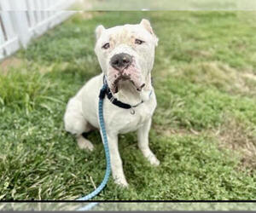
[[[226,118],[225,123],[215,133],[221,148],[241,153],[240,169],[256,169],[256,135],[234,118]]]

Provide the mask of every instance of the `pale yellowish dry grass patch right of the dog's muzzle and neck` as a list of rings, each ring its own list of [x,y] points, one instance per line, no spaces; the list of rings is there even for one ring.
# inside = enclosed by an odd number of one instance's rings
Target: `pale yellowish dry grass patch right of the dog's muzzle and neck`
[[[192,83],[212,85],[230,94],[255,95],[256,75],[237,70],[219,61],[204,61],[160,72],[161,78],[182,78]]]

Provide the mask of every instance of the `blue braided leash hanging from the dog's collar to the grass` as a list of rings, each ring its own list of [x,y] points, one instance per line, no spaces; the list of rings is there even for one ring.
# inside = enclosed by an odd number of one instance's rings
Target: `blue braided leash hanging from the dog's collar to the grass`
[[[98,186],[92,193],[78,199],[78,200],[89,200],[95,197],[98,193],[102,191],[104,187],[106,187],[108,183],[108,178],[111,173],[110,169],[110,156],[109,156],[109,149],[108,149],[108,137],[105,129],[105,123],[104,123],[104,118],[103,118],[103,100],[106,95],[106,89],[107,89],[107,83],[104,83],[99,95],[99,121],[100,121],[100,128],[101,128],[101,133],[102,133],[102,141],[105,149],[105,155],[106,155],[106,163],[107,163],[107,168],[105,172],[104,179],[101,183],[100,186]]]

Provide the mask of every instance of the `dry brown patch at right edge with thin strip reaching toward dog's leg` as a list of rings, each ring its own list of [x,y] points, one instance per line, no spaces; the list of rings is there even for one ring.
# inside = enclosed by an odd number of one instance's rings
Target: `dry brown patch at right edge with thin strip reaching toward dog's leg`
[[[220,149],[229,149],[241,156],[241,162],[238,166],[239,170],[255,170],[256,169],[256,134],[253,128],[249,129],[245,124],[239,122],[235,118],[224,118],[225,122],[218,130],[186,130],[178,128],[166,128],[161,125],[154,124],[154,130],[167,137],[192,136],[192,135],[208,135],[219,141]]]

